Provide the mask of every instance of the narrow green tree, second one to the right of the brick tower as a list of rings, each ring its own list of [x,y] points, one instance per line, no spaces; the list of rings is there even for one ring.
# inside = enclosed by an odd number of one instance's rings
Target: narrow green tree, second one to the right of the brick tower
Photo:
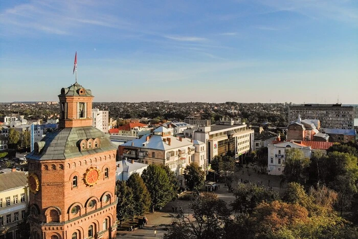
[[[133,173],[129,177],[127,186],[133,192],[133,213],[135,215],[143,215],[149,210],[151,201],[150,193],[139,173]]]

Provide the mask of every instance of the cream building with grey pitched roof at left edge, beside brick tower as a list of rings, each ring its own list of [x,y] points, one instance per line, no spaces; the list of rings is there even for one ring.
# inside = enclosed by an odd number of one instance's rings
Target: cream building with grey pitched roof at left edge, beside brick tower
[[[0,173],[0,238],[23,238],[17,224],[23,221],[28,208],[27,173],[12,169]]]

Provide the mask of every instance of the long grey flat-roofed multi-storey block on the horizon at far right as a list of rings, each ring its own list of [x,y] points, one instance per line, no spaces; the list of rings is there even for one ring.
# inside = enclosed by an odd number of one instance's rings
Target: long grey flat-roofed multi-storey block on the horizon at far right
[[[352,129],[354,127],[354,107],[342,104],[304,104],[289,106],[288,120],[296,121],[301,115],[303,119],[319,119],[323,128]]]

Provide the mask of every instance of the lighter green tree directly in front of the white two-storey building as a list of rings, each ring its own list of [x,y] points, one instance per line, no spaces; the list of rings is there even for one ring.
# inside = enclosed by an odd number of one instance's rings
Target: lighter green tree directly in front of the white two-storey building
[[[305,182],[308,177],[309,158],[297,148],[286,148],[283,175],[289,182]]]

